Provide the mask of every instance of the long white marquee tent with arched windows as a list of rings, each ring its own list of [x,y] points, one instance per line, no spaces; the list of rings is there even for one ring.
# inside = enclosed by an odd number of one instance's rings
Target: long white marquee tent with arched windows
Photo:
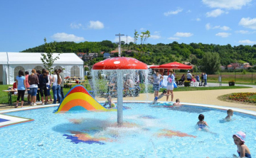
[[[58,53],[53,54],[53,58]],[[0,52],[0,83],[14,84],[19,70],[43,69],[41,52]],[[81,77],[84,79],[83,61],[75,53],[63,53],[53,63],[54,69],[63,69],[65,77]]]

